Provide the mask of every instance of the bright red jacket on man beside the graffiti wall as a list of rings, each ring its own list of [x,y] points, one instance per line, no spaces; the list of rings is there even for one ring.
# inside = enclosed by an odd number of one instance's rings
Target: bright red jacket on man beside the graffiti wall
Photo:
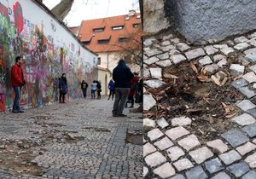
[[[24,86],[26,84],[21,67],[15,63],[11,70],[12,86]]]

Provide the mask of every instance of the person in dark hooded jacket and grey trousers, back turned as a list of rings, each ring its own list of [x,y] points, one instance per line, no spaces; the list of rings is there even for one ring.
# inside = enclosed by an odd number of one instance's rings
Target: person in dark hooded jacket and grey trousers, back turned
[[[115,99],[113,102],[113,117],[125,117],[123,113],[125,101],[127,100],[131,87],[130,81],[134,77],[131,69],[126,66],[125,61],[121,59],[118,65],[113,69],[113,81],[115,88]]]

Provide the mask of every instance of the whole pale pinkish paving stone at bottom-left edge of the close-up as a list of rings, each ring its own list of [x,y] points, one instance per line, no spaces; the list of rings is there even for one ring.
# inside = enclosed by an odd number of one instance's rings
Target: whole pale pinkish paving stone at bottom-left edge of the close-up
[[[160,165],[158,168],[153,170],[154,174],[160,176],[161,178],[167,178],[175,175],[175,170],[172,165],[168,162],[164,165]]]

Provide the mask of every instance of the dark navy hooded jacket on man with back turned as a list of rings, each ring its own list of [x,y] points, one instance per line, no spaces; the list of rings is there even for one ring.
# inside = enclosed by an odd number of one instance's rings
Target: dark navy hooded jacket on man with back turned
[[[118,66],[113,69],[114,88],[129,89],[133,76],[131,69],[126,66],[125,61],[120,60]]]

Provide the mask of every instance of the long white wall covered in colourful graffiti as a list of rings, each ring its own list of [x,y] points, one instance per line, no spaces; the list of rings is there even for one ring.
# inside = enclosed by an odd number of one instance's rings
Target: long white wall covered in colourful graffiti
[[[58,78],[67,73],[68,97],[81,96],[80,82],[96,79],[96,54],[79,43],[47,10],[32,0],[0,0],[0,112],[12,107],[10,69],[22,56],[26,86],[21,107],[58,101]]]

